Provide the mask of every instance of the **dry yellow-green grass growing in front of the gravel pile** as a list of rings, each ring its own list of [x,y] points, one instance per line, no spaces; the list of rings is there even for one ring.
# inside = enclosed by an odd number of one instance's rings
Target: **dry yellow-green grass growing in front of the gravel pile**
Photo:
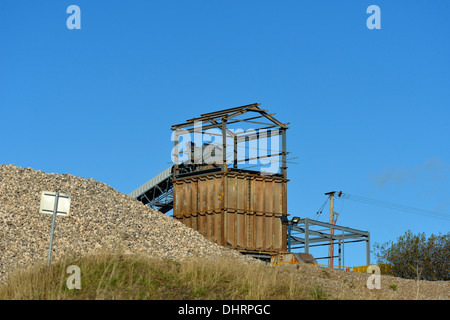
[[[69,265],[81,270],[81,289],[69,290]],[[97,255],[14,273],[0,299],[325,299],[323,288],[263,264],[204,259],[175,262],[138,255]]]

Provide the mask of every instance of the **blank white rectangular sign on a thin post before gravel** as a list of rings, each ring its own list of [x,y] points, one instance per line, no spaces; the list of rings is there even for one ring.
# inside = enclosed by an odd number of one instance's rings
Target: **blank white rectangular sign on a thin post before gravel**
[[[70,194],[57,192],[42,192],[41,207],[39,213],[53,214],[52,228],[50,231],[50,243],[48,248],[47,267],[50,267],[52,258],[53,233],[57,215],[68,216],[70,209]]]

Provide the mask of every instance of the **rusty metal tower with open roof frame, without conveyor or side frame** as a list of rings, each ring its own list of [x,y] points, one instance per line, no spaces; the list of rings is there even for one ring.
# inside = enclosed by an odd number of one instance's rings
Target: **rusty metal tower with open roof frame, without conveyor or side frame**
[[[233,124],[244,123],[253,127],[232,128]],[[181,135],[216,137],[213,147],[197,146],[195,143],[202,143],[203,139],[194,137],[191,148],[187,148],[187,159],[175,164],[173,217],[207,239],[244,254],[270,258],[271,254],[286,251],[286,225],[280,218],[288,215],[287,129],[286,123],[276,120],[258,104],[202,114],[172,126],[174,132],[178,131],[175,156],[180,154]],[[276,141],[280,137],[281,149]],[[211,152],[205,154],[207,150]],[[186,155],[186,150],[182,153]],[[271,158],[271,172],[264,170],[264,158]],[[251,161],[259,170],[245,168]]]

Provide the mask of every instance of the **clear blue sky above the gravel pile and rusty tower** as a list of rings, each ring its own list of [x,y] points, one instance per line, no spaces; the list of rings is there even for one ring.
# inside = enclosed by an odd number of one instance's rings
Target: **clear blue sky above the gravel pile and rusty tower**
[[[66,27],[71,4],[81,30]],[[2,0],[0,163],[129,193],[169,166],[172,124],[259,102],[290,122],[291,216],[314,217],[332,190],[449,213],[449,13],[444,0]],[[372,243],[450,229],[350,200],[336,211]],[[345,264],[364,254],[346,246]]]

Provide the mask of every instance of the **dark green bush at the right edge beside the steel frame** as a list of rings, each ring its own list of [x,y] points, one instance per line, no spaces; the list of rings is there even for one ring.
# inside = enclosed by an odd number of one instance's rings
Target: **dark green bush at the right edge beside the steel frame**
[[[388,274],[405,279],[450,280],[450,232],[445,235],[407,231],[397,242],[375,244],[380,264],[392,266]]]

